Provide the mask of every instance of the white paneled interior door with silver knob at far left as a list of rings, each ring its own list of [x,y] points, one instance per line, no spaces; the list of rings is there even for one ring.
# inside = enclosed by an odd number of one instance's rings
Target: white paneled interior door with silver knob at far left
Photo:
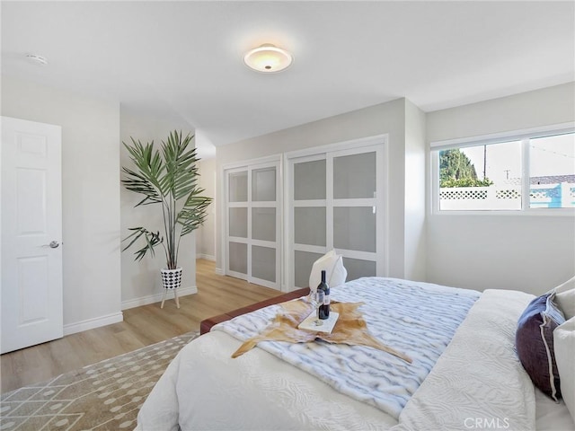
[[[63,336],[61,128],[2,117],[1,353]]]

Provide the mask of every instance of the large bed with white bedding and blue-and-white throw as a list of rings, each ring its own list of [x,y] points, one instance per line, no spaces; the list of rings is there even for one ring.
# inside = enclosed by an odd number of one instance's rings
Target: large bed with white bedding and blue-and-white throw
[[[321,340],[262,341],[232,358],[284,312],[270,305],[182,348],[140,409],[137,429],[573,430],[565,404],[537,390],[517,359],[517,320],[533,299],[360,278],[332,288],[332,300],[363,303],[370,334],[411,364]]]

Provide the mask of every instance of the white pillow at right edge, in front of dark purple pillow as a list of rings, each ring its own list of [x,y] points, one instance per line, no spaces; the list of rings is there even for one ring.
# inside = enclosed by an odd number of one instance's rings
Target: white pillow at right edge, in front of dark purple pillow
[[[561,379],[561,394],[575,421],[575,318],[553,330],[553,350]]]

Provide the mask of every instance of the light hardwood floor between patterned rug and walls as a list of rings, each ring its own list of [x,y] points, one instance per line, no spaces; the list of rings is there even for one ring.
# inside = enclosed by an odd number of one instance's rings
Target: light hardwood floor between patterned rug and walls
[[[196,285],[198,293],[182,296],[180,309],[169,294],[164,309],[160,309],[160,303],[152,303],[124,310],[122,322],[0,356],[2,393],[191,330],[199,331],[199,322],[208,317],[281,295],[277,290],[234,277],[217,276],[215,263],[205,259],[197,260]]]

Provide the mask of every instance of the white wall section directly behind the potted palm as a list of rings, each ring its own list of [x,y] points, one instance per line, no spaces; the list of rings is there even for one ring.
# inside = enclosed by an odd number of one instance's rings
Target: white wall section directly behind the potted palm
[[[145,115],[121,108],[120,137],[121,142],[131,144],[130,136],[139,140],[142,144],[155,142],[155,148],[162,145],[170,132],[181,131],[185,136],[193,134],[193,128],[185,121],[169,121],[164,119],[149,118]],[[128,151],[121,145],[119,149],[122,166],[132,166]],[[120,176],[120,175],[118,175]],[[123,178],[123,174],[121,175]],[[121,238],[128,236],[129,227],[145,226],[150,230],[164,229],[162,209],[158,205],[134,206],[141,200],[137,193],[128,191],[121,186]],[[128,242],[122,242],[122,249]],[[127,251],[121,253],[121,298],[122,308],[127,309],[155,303],[162,299],[164,290],[160,277],[160,269],[165,268],[165,254],[161,246],[156,247],[155,257],[148,255],[140,260],[134,260],[134,252],[138,250],[137,244],[132,245]],[[186,235],[181,239],[178,265],[183,268],[181,288],[179,295],[190,295],[197,292],[196,286],[196,243],[195,233]]]

